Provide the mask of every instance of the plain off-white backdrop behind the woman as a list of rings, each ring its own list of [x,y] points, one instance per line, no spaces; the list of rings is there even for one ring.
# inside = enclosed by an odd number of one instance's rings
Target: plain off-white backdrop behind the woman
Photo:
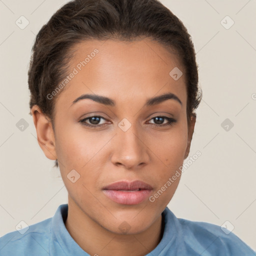
[[[177,217],[228,223],[256,249],[256,1],[161,2],[192,36],[203,91],[189,155],[201,156],[184,169],[168,207]],[[35,35],[64,3],[0,1],[0,236],[67,203],[59,170],[37,143],[27,85]],[[15,23],[20,16],[29,22],[24,29]]]

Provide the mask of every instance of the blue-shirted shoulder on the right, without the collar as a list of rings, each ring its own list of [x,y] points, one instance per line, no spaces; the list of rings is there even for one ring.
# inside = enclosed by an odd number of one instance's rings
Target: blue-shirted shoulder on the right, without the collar
[[[255,251],[228,229],[207,222],[182,218],[178,218],[178,222],[186,246],[192,250],[198,249],[201,255],[256,255]]]

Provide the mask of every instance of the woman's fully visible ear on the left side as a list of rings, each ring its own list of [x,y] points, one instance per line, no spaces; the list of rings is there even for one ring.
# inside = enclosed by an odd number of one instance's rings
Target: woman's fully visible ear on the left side
[[[47,158],[51,160],[57,159],[51,120],[42,113],[38,105],[33,105],[30,112],[33,116],[39,146]]]

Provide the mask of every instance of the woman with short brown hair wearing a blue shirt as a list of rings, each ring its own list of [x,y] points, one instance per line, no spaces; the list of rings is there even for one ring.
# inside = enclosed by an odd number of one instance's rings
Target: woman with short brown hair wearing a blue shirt
[[[201,99],[193,43],[170,10],[73,0],[32,50],[31,115],[68,204],[2,236],[1,255],[255,255],[232,232],[166,207]]]

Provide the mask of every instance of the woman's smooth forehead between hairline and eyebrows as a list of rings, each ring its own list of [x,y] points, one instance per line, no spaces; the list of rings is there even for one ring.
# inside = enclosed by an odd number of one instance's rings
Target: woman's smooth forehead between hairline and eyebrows
[[[68,81],[57,101],[72,103],[83,93],[100,94],[115,101],[143,100],[155,94],[172,92],[185,101],[185,77],[178,80],[170,71],[178,67],[174,52],[149,39],[136,41],[90,40],[73,47]]]

